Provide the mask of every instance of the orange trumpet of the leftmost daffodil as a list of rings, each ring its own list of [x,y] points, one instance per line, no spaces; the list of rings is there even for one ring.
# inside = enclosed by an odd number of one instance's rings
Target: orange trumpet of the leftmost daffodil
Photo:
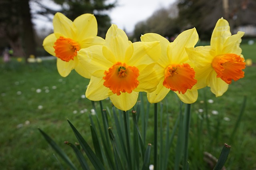
[[[70,38],[60,37],[54,43],[54,53],[56,57],[62,59],[63,61],[74,60],[77,55],[77,51],[80,50],[80,45]]]

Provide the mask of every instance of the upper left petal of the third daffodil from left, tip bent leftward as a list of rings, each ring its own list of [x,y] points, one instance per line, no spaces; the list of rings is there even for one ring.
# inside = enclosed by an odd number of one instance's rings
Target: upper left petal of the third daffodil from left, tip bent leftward
[[[148,33],[144,34],[143,36],[140,37],[142,42],[154,42],[154,41],[159,41],[160,42],[160,47],[161,47],[161,55],[159,57],[158,63],[162,65],[163,67],[167,67],[170,63],[166,62],[169,61],[168,56],[167,56],[167,47],[169,45],[169,41],[160,36],[159,34],[155,33]]]

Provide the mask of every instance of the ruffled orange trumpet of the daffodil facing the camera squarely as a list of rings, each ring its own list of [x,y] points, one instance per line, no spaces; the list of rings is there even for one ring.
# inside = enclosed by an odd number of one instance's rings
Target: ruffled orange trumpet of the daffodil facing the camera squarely
[[[132,93],[139,85],[137,80],[140,75],[137,67],[126,65],[126,63],[117,62],[104,72],[105,80],[103,85],[108,87],[114,94]]]

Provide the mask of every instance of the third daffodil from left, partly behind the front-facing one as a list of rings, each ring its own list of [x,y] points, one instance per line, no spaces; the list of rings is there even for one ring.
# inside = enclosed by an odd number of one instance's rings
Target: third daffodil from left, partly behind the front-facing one
[[[160,41],[161,55],[155,66],[160,78],[156,90],[147,93],[150,103],[158,103],[170,92],[174,91],[184,103],[194,103],[198,92],[192,87],[196,84],[195,71],[192,63],[188,60],[185,47],[194,47],[198,42],[196,29],[182,32],[174,40],[169,42],[166,38],[148,33],[141,36],[142,42]]]

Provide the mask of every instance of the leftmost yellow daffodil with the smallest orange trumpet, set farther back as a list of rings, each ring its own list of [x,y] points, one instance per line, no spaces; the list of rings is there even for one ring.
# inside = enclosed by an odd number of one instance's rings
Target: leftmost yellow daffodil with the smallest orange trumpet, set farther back
[[[57,12],[53,18],[54,33],[44,39],[44,49],[57,57],[57,69],[66,77],[75,69],[83,77],[90,73],[77,59],[77,51],[91,45],[103,44],[104,39],[97,36],[97,21],[93,14],[78,16],[74,22]],[[86,66],[85,66],[86,67]]]

